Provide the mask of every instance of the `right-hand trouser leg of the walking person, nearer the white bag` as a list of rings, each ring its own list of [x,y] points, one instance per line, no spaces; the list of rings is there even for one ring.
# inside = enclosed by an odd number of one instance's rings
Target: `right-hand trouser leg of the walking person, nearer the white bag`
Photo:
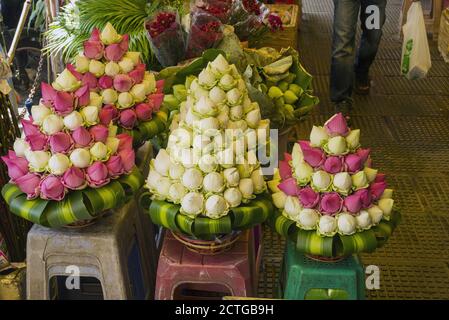
[[[362,27],[362,37],[360,40],[360,47],[357,51],[357,58],[355,62],[355,76],[359,89],[367,89],[369,91],[369,68],[376,57],[377,49],[382,37],[382,26],[386,20],[385,7],[386,0],[361,0],[360,22]],[[379,8],[379,25],[371,25],[375,22],[375,17],[372,16],[373,11],[370,6],[377,6]],[[368,13],[367,13],[368,9]],[[378,28],[377,28],[378,27]],[[367,88],[364,88],[367,86]]]

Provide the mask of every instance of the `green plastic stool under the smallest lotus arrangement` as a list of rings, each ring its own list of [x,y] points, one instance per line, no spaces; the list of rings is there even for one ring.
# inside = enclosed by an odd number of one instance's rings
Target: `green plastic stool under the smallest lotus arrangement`
[[[355,255],[338,262],[312,260],[287,241],[277,294],[288,300],[364,300],[364,268]]]

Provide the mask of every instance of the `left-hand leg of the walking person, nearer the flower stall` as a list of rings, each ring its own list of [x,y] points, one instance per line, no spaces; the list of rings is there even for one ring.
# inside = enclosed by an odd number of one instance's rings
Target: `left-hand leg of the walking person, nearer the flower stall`
[[[355,35],[360,0],[334,0],[330,95],[333,102],[351,98]]]

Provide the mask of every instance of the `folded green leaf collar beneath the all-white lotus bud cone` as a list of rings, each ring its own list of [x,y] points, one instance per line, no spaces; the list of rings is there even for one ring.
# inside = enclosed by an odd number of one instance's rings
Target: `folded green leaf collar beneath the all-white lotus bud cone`
[[[140,197],[141,205],[148,206],[149,198],[148,192],[143,193]],[[249,229],[263,223],[273,213],[271,202],[264,196],[233,208],[228,215],[219,219],[208,217],[192,219],[181,214],[179,209],[179,205],[154,200],[150,203],[149,214],[154,224],[199,239],[210,239],[215,235],[228,234],[234,230]]]

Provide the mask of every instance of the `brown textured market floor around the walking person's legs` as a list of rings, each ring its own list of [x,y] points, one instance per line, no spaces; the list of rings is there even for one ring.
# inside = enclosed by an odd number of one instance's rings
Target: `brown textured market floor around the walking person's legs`
[[[332,0],[302,0],[302,62],[314,75],[321,103],[300,125],[300,138],[312,124],[331,114],[329,101]],[[403,219],[389,243],[363,255],[366,265],[380,267],[380,289],[368,299],[449,299],[449,64],[431,42],[432,69],[427,79],[408,81],[398,75],[401,0],[388,1],[388,20],[377,60],[374,87],[355,98],[353,127],[362,145],[372,149],[374,166],[387,174]],[[265,229],[265,256],[259,296],[273,297],[282,262],[283,240]]]

